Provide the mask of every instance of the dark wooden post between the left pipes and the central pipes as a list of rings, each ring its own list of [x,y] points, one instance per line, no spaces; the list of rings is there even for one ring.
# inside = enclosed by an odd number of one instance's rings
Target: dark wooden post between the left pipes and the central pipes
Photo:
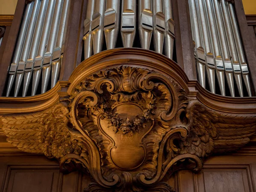
[[[73,70],[81,62],[83,22],[87,0],[72,0],[70,17],[61,66],[60,80],[68,80]]]

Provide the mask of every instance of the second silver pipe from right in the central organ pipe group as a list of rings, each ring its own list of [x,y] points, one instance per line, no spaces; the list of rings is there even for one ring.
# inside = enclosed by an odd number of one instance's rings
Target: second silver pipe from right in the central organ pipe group
[[[163,0],[153,1],[153,30],[154,30],[154,49],[162,54],[163,41],[165,35],[165,16],[163,14]]]

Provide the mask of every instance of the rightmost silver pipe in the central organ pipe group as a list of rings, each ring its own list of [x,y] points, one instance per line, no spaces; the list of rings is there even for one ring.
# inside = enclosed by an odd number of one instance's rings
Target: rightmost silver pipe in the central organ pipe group
[[[164,15],[166,22],[166,32],[165,32],[165,55],[166,57],[172,59],[173,57],[173,46],[175,40],[174,26],[175,22],[172,16],[172,0],[164,0]]]

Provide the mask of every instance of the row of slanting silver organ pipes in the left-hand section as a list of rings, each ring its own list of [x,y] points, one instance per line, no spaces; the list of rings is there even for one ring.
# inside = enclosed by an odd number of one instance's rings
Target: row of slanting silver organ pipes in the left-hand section
[[[17,97],[41,93],[58,81],[71,0],[34,0],[26,5],[6,86]],[[32,83],[32,92],[28,93]],[[23,84],[23,86],[22,86]]]

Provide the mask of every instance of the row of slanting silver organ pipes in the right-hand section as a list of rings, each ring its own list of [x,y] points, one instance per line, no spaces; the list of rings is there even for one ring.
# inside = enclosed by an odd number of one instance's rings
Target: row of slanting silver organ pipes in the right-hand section
[[[215,93],[216,73],[221,95],[226,96],[227,81],[231,96],[235,97],[237,89],[239,96],[243,97],[244,81],[248,96],[252,96],[249,70],[233,4],[226,0],[189,0],[189,9],[198,81],[202,87],[205,88],[207,77],[209,90]],[[234,79],[237,86],[234,85]]]

